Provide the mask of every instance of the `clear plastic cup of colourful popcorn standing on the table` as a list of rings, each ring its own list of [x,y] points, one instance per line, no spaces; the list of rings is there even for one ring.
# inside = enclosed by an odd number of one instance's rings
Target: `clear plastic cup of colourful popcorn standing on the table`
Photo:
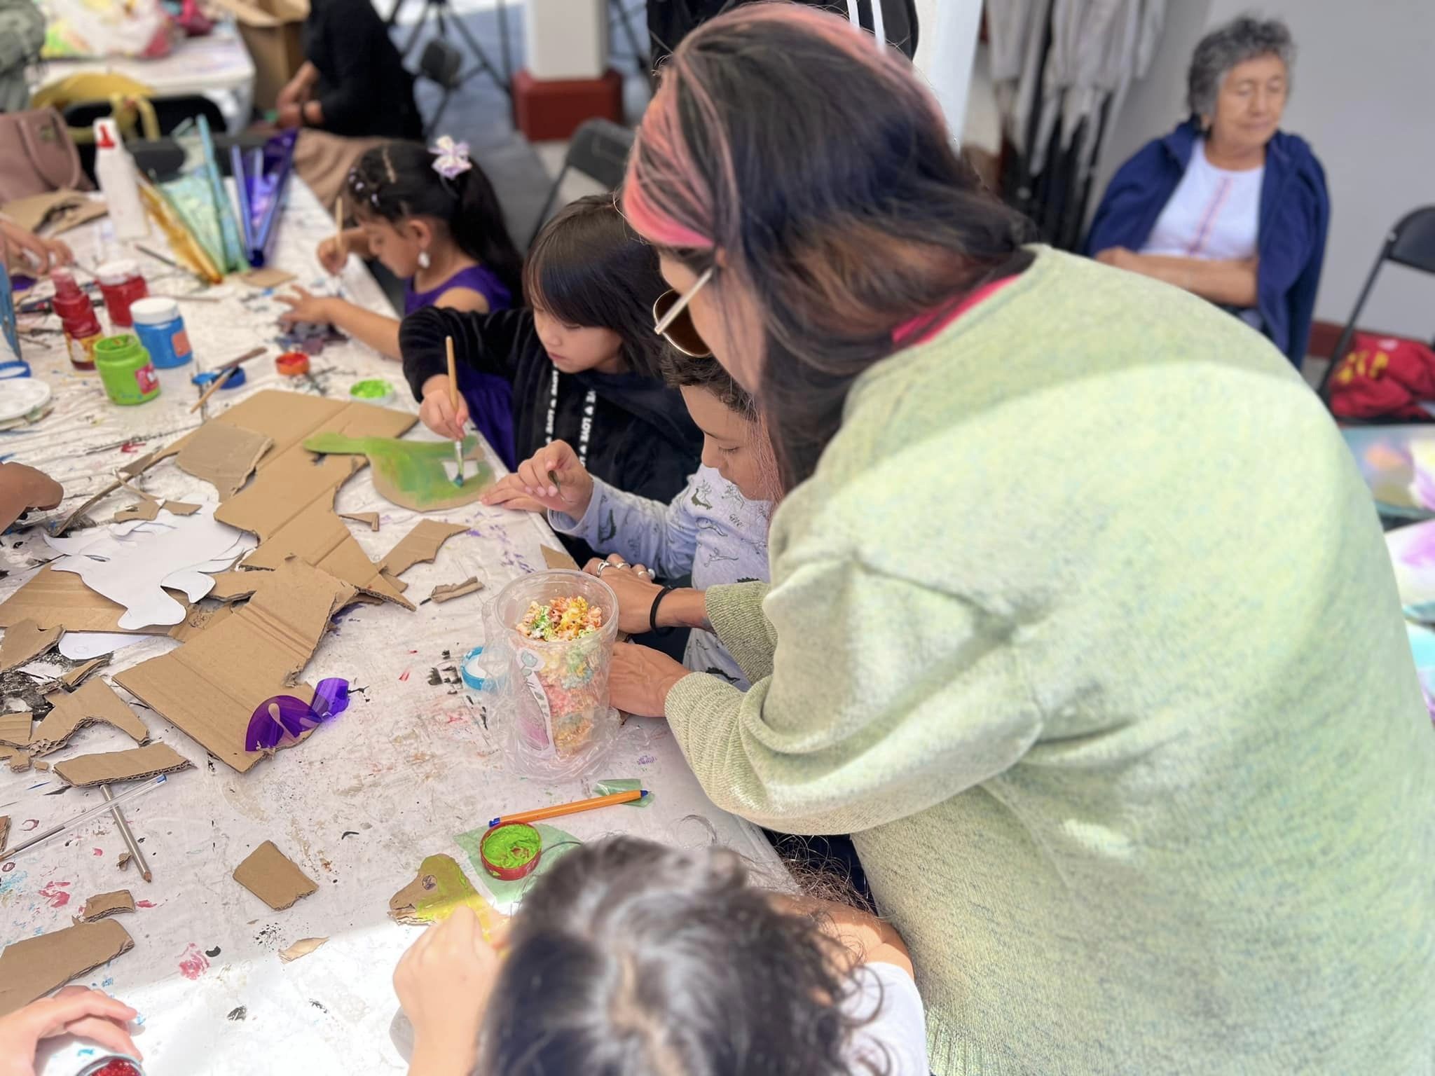
[[[545,643],[517,630],[532,603],[574,597],[603,610],[594,634]],[[618,732],[617,710],[608,704],[618,630],[613,588],[581,571],[540,571],[504,587],[485,620],[484,669],[497,680],[501,712],[512,719],[508,758],[515,769],[558,780],[601,762]]]

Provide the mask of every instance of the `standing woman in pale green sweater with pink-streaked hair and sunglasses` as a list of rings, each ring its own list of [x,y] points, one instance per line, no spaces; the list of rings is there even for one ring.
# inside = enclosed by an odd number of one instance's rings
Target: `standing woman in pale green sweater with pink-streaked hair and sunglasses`
[[[771,587],[693,617],[752,689],[623,647],[614,703],[719,806],[854,835],[933,1067],[1431,1072],[1435,739],[1283,356],[1022,247],[905,62],[796,6],[679,46],[624,211],[788,492]]]

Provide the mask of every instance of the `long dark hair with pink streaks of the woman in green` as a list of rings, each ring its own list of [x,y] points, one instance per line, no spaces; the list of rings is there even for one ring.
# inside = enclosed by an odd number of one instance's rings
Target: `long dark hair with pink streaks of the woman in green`
[[[725,311],[735,293],[758,306],[762,376],[748,387],[788,489],[894,330],[936,324],[1030,264],[1025,221],[961,161],[911,65],[798,4],[745,4],[683,39],[623,209],[689,268],[719,263],[709,287]]]

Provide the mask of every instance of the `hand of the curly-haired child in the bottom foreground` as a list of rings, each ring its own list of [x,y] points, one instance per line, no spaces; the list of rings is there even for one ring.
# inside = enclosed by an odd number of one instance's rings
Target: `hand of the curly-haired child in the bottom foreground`
[[[410,1076],[468,1073],[498,978],[498,953],[466,904],[429,927],[393,970],[393,991],[413,1024]]]

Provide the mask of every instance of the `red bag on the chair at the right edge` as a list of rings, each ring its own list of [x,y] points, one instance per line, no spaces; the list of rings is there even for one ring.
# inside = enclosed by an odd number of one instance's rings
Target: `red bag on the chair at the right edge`
[[[1330,412],[1337,419],[1431,422],[1422,402],[1435,402],[1435,350],[1416,340],[1356,333],[1330,376]]]

